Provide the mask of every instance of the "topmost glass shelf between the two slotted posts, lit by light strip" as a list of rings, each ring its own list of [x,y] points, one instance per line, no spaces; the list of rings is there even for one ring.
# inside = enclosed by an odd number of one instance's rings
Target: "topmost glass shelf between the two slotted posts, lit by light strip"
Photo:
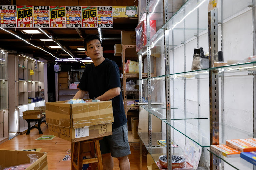
[[[194,28],[196,28],[196,20],[190,20],[189,17],[191,16],[191,13],[197,12],[196,9],[199,8],[199,6],[205,6],[207,8],[207,0],[188,0],[180,9],[177,11],[163,26],[163,28],[168,29],[174,29],[174,28],[184,28],[183,20],[188,19],[188,23],[191,23],[189,21],[192,21],[190,26],[185,26],[186,28],[193,28],[191,25],[194,24]],[[194,17],[195,18],[195,17]],[[203,28],[208,28],[208,23],[204,24]]]

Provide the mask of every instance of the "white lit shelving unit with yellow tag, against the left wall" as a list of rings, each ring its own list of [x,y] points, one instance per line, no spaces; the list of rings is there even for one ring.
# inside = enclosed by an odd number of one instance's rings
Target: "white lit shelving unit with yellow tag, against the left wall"
[[[11,66],[9,89],[13,89],[9,90],[10,132],[24,134],[28,124],[22,112],[45,105],[44,100],[33,103],[28,100],[44,96],[44,63],[25,55],[9,55],[8,64]]]

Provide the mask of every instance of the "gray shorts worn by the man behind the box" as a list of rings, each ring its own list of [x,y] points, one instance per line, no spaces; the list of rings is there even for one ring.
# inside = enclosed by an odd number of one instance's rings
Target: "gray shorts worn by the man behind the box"
[[[105,136],[100,140],[100,152],[101,154],[111,153],[114,158],[131,154],[127,124],[114,128],[112,135]]]

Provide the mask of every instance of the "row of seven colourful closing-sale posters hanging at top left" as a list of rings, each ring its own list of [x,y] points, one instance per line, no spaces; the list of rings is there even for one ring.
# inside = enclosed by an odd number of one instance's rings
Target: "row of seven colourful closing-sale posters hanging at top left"
[[[0,27],[113,28],[113,9],[112,6],[0,6]],[[126,7],[123,11],[131,10],[136,7]]]

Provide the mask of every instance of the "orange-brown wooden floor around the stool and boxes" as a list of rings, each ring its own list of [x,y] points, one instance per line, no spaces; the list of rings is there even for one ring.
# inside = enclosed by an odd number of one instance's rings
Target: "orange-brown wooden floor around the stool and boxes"
[[[11,140],[8,140],[0,145],[0,149],[8,150],[22,150],[42,148],[41,152],[47,152],[47,161],[49,170],[70,169],[70,161],[63,161],[63,157],[67,151],[71,149],[71,142],[55,137],[52,140],[35,140],[42,135],[49,135],[48,128],[45,123],[41,124],[43,134],[39,134],[37,129],[32,129],[30,135],[18,135]],[[140,169],[140,151],[133,150],[131,147],[131,154],[128,156],[130,160],[131,170]],[[114,158],[114,170],[119,169],[119,162]],[[143,157],[143,170],[147,170],[147,159]]]

